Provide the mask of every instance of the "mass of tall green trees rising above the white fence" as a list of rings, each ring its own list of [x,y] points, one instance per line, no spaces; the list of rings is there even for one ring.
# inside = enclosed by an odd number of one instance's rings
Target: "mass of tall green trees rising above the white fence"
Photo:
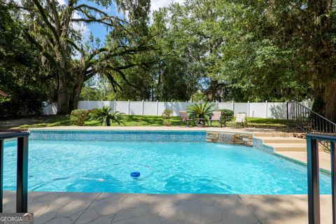
[[[186,0],[154,12],[149,0],[89,2],[0,3],[7,104],[23,92],[57,102],[59,113],[96,97],[313,99],[336,120],[334,1]],[[106,13],[112,4],[125,13]],[[106,41],[85,40],[78,22],[109,27]]]

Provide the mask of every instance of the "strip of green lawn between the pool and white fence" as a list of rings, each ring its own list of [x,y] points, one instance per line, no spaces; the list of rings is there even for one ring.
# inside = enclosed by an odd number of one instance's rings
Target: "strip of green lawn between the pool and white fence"
[[[163,126],[160,116],[124,116],[123,126]],[[247,118],[248,127],[270,127],[277,130],[286,128],[286,120],[265,119],[265,118]],[[172,126],[180,125],[179,117],[172,117]],[[0,121],[0,128],[29,128],[29,127],[55,127],[70,126],[70,116],[34,116],[15,120]],[[218,126],[218,123],[213,123]],[[100,126],[95,121],[86,121],[85,126]],[[118,126],[112,123],[112,126]]]

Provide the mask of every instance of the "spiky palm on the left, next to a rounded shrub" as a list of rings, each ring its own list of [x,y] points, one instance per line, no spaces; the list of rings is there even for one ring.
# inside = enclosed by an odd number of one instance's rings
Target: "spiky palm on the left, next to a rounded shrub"
[[[102,108],[95,108],[90,113],[90,120],[97,120],[104,126],[111,126],[113,120],[120,125],[123,123],[123,113],[118,111],[111,113],[110,106],[103,106]]]

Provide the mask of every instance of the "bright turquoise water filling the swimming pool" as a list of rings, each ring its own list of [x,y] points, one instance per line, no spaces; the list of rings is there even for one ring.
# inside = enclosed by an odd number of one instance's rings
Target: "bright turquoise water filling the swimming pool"
[[[5,143],[4,154],[4,188],[15,190],[15,142]],[[306,169],[246,146],[32,140],[28,183],[34,191],[307,194]],[[330,176],[321,174],[321,193],[330,189]]]

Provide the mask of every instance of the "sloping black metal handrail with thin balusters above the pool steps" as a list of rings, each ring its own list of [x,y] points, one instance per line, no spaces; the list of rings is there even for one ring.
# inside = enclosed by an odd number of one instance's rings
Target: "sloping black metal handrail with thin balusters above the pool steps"
[[[306,133],[336,134],[336,123],[295,101],[287,102],[287,122]]]

